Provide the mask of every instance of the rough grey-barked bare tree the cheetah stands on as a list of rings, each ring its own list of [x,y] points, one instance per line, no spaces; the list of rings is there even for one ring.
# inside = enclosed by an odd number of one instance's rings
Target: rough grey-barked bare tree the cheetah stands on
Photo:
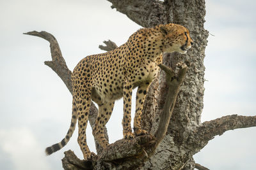
[[[127,145],[122,140],[117,141],[108,148],[108,152],[102,152],[100,146],[97,145],[97,152],[100,153],[98,155],[101,156],[100,160],[84,162],[76,159],[72,152],[66,152],[66,157],[63,159],[65,169],[72,167],[77,169],[102,169],[106,167],[110,169],[136,167],[140,169],[193,169],[198,164],[195,164],[192,156],[204,148],[214,136],[231,129],[256,126],[256,117],[237,115],[218,118],[202,124],[200,122],[204,96],[204,50],[208,36],[208,32],[204,29],[204,0],[109,1],[113,4],[112,8],[116,8],[116,10],[124,13],[143,27],[152,27],[169,22],[188,27],[195,45],[189,50],[186,59],[178,53],[164,54],[163,64],[165,66],[172,67],[175,70],[177,63],[183,61],[188,65],[188,71],[186,71],[184,82],[177,95],[172,118],[166,129],[167,132],[156,150],[150,146],[155,145],[154,142],[156,142],[151,136],[141,136],[134,139],[132,141],[134,145],[131,145],[131,143]],[[47,32],[28,32],[26,34],[40,36],[51,43],[52,61],[45,62],[45,64],[61,77],[68,90],[72,92],[70,85],[71,71],[65,64],[54,36]],[[105,48],[104,50],[111,50],[116,47],[110,41],[106,42],[106,45],[108,49]],[[166,95],[170,90],[168,87],[165,73],[161,71],[159,78],[152,83],[150,90],[148,90],[142,124],[144,129],[147,129],[151,134],[156,134],[156,131],[159,130],[160,117],[163,116],[165,101],[170,99],[170,96]],[[90,123],[94,122],[96,116],[97,108],[92,104]],[[137,143],[140,145],[136,145]],[[135,145],[136,147],[132,148]]]

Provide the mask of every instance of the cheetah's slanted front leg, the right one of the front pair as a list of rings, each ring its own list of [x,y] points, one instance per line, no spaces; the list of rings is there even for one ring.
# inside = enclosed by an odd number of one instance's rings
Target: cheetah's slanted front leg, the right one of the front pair
[[[146,81],[139,85],[137,94],[136,94],[136,111],[134,117],[134,133],[136,136],[147,134],[147,131],[141,129],[141,111],[143,109],[143,103],[145,101],[145,96],[148,91],[150,82]]]

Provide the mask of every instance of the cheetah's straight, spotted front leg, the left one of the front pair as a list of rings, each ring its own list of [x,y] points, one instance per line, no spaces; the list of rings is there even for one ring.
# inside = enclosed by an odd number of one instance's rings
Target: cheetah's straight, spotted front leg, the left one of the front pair
[[[124,82],[124,118],[123,118],[123,134],[125,139],[134,138],[131,129],[131,99],[132,99],[132,85],[131,81]]]

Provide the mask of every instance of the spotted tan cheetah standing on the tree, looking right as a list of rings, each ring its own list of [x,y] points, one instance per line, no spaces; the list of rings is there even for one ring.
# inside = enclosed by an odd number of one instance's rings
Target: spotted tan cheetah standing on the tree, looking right
[[[104,138],[104,126],[109,120],[115,101],[124,98],[124,118],[122,120],[125,139],[147,134],[141,129],[141,110],[150,83],[159,71],[163,52],[186,53],[193,45],[186,27],[177,24],[161,24],[140,29],[132,34],[124,45],[115,50],[89,55],[82,59],[72,73],[72,120],[67,135],[60,143],[45,149],[47,155],[63,148],[72,136],[78,119],[77,141],[84,159],[94,155],[86,144],[86,126],[91,100],[98,104],[99,113],[93,136],[102,148],[109,143]],[[131,96],[136,93],[136,113],[134,133],[131,129]]]

